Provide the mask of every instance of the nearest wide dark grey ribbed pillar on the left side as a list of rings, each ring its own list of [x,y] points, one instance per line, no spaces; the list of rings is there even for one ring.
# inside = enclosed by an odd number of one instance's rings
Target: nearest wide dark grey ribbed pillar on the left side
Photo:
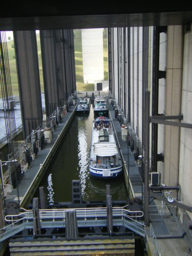
[[[42,103],[35,31],[14,31],[14,47],[24,137],[42,123]]]

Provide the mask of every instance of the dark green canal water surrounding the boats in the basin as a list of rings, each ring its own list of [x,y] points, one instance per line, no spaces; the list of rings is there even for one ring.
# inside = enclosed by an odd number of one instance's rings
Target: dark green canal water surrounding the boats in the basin
[[[80,180],[84,201],[105,201],[106,184],[110,184],[112,200],[128,201],[123,176],[112,181],[90,177],[89,157],[93,120],[93,104],[89,115],[74,117],[52,165],[40,184],[44,187],[49,203],[71,202],[72,180]]]

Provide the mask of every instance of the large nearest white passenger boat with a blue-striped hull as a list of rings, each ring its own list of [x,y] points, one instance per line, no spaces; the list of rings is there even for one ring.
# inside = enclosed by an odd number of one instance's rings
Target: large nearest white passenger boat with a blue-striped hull
[[[93,121],[90,151],[90,175],[100,179],[117,178],[123,172],[112,122],[108,117]]]

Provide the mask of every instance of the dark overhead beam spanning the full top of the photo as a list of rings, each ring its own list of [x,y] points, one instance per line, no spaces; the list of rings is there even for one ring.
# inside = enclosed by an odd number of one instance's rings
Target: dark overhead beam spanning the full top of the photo
[[[5,3],[6,2],[4,2],[4,4]],[[17,2],[15,3],[17,4]],[[151,3],[148,5],[146,4],[146,2],[143,3],[145,3],[145,8],[147,6],[151,6]],[[46,3],[46,5],[43,6],[43,9],[39,9],[39,6],[38,8],[36,8],[36,5],[33,5],[35,9],[31,9],[27,6],[26,9],[23,9],[23,11],[19,9],[18,12],[15,11],[18,9],[18,5],[16,7],[13,7],[12,4],[9,4],[7,12],[4,8],[4,16],[0,17],[0,30],[53,30],[143,26],[174,26],[188,25],[192,22],[191,8],[186,8],[187,10],[184,11],[180,9],[178,11],[169,12],[161,12],[161,9],[156,9],[156,11],[153,12],[153,10],[150,11],[149,9],[146,9],[145,12],[143,12],[145,8],[140,10],[138,9],[138,6],[140,4],[137,4],[135,10],[132,10],[131,12],[131,9],[127,8],[126,11],[129,10],[129,13],[124,13],[124,6],[115,4],[115,9],[113,13],[111,4],[112,2],[110,2],[107,6],[108,12],[105,13],[99,13],[99,10],[94,11],[95,8],[92,7],[90,7],[89,9],[88,5],[86,5],[86,7],[82,5],[81,9],[79,8],[77,13],[75,13],[74,7],[76,5],[73,5],[73,7],[69,10],[66,7],[61,8],[59,3],[59,10],[65,10],[67,12],[66,14],[63,12],[54,13],[54,8],[52,8],[51,10],[48,3]],[[120,10],[118,12],[118,10],[116,9],[118,6],[121,6],[121,12],[123,13],[120,13]],[[181,7],[182,6],[185,5],[181,5]],[[49,12],[48,8],[50,8]],[[100,8],[100,11],[103,11],[103,5],[98,8]],[[27,12],[28,10],[30,10],[30,13]],[[70,11],[73,11],[71,15]]]

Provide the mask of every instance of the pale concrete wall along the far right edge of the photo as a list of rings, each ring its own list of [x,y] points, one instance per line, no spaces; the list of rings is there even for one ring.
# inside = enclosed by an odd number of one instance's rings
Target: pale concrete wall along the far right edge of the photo
[[[192,29],[192,27],[191,27]],[[192,123],[192,31],[184,33],[183,44],[183,73],[181,91],[182,122]],[[192,205],[192,130],[181,128],[179,141],[179,185],[181,200],[184,204]],[[189,214],[189,212],[187,212]],[[190,214],[192,218],[192,214]]]

